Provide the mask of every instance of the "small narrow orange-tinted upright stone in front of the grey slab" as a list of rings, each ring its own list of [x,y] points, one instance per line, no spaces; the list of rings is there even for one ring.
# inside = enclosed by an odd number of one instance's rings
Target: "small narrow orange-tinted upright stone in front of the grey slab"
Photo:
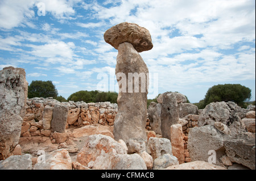
[[[181,124],[171,125],[172,154],[177,157],[179,164],[184,163],[184,142]]]

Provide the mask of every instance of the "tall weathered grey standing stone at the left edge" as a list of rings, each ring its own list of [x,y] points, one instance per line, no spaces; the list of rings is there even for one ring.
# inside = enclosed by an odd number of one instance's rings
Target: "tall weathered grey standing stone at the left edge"
[[[10,157],[19,142],[27,89],[24,69],[7,67],[0,71],[0,160]]]

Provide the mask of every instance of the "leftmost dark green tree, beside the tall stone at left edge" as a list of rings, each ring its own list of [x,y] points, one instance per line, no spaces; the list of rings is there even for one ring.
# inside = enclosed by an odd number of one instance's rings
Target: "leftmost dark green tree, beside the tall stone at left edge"
[[[52,81],[32,81],[28,86],[28,98],[56,98],[58,91]]]

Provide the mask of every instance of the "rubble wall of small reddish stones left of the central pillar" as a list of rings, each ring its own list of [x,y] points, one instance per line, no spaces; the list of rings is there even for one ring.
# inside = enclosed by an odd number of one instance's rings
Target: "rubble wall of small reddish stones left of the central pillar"
[[[23,119],[20,136],[51,137],[51,132],[53,132],[51,120],[55,104],[68,106],[66,129],[95,124],[112,126],[117,114],[117,104],[110,102],[85,103],[69,101],[60,103],[53,98],[27,99],[26,115]]]

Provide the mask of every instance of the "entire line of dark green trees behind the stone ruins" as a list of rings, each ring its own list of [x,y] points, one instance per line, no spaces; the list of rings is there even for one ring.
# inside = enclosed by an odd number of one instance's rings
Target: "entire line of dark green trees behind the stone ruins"
[[[160,95],[160,94],[159,94]],[[158,95],[158,96],[159,96]],[[157,103],[157,98],[148,99],[147,106],[151,102]],[[72,100],[74,102],[84,101],[86,103],[90,102],[111,102],[117,103],[117,92],[100,92],[100,91],[77,91],[71,94],[66,100],[63,96],[58,95],[55,85],[52,81],[32,81],[28,86],[28,98],[34,97],[53,97],[53,99],[59,100],[60,102],[67,102]],[[187,96],[186,96],[187,98]],[[248,102],[251,99],[251,90],[248,87],[242,86],[240,84],[225,84],[225,85],[216,85],[208,89],[205,98],[200,100],[199,103],[194,103],[199,109],[204,109],[209,103],[212,102],[221,102],[221,101],[232,101],[237,103],[238,106],[246,108],[249,104],[255,105],[254,102]],[[187,103],[190,103],[187,98]]]

